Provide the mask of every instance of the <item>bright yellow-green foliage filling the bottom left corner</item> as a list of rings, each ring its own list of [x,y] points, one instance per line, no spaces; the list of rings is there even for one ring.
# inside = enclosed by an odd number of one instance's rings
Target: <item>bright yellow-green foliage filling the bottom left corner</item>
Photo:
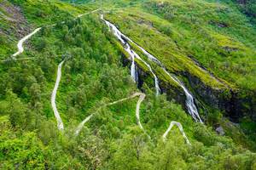
[[[45,167],[46,148],[36,133],[14,132],[6,116],[0,117],[0,125],[1,169]]]

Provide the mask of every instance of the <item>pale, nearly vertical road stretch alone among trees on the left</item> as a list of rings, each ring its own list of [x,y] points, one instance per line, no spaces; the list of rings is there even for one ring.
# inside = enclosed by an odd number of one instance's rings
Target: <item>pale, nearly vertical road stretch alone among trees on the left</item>
[[[61,61],[60,65],[58,65],[58,71],[57,71],[57,78],[56,78],[56,82],[55,82],[55,88],[53,89],[52,94],[51,94],[51,106],[52,106],[52,109],[53,109],[53,111],[55,113],[55,118],[57,120],[57,124],[58,124],[58,129],[59,130],[63,130],[64,129],[64,125],[63,125],[63,122],[61,120],[60,113],[57,110],[55,99],[56,99],[57,90],[59,88],[59,84],[60,84],[60,81],[61,81],[61,67],[62,67],[64,61],[65,60]]]

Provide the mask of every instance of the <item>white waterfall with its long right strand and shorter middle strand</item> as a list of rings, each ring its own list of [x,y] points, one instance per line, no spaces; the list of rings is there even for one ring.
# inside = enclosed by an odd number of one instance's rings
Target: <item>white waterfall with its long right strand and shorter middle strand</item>
[[[103,15],[102,15],[102,20],[103,19]],[[157,65],[160,65],[160,67],[163,69],[163,71],[166,72],[166,74],[172,78],[172,80],[174,82],[177,82],[177,84],[183,88],[183,91],[184,93],[186,94],[186,106],[188,108],[188,111],[189,111],[189,114],[193,117],[193,119],[195,119],[195,121],[199,121],[199,122],[202,122],[201,121],[201,117],[199,116],[199,113],[197,111],[197,108],[195,106],[195,102],[194,102],[194,97],[193,95],[189,92],[189,90],[183,85],[182,82],[180,82],[177,77],[175,77],[174,75],[170,74],[167,70],[166,70],[166,67],[160,62],[159,59],[156,59],[152,54],[149,54],[147,52],[147,50],[145,50],[144,48],[142,48],[141,46],[139,46],[136,42],[133,42],[129,37],[126,37],[121,31],[119,31],[117,29],[116,26],[114,26],[113,24],[111,24],[110,22],[108,22],[108,20],[104,20],[106,22],[106,24],[108,25],[108,27],[112,27],[113,29],[113,34],[119,38],[119,41],[122,42],[123,44],[125,44],[125,46],[129,46],[129,51],[127,51],[131,57],[132,57],[132,60],[134,61],[134,58],[137,57],[137,59],[140,59],[143,61],[143,59],[141,59],[136,53],[134,53],[132,50],[131,50],[131,47],[130,45],[126,42],[126,41],[129,41],[129,42],[132,42],[134,43],[138,48],[140,48],[142,51],[143,51],[143,54],[147,55],[148,59],[153,61],[154,63],[156,63]],[[125,40],[126,41],[125,41]],[[133,62],[132,61],[132,62]],[[160,89],[159,88],[159,85],[158,85],[158,78],[155,76],[154,72],[152,71],[151,69],[151,66],[148,65],[147,62],[143,61],[143,63],[145,65],[148,66],[149,70],[153,73],[154,75],[154,82],[155,82],[155,88],[156,89]],[[131,75],[132,76],[132,75]],[[157,90],[158,91],[158,90]],[[159,91],[160,92],[160,91]]]

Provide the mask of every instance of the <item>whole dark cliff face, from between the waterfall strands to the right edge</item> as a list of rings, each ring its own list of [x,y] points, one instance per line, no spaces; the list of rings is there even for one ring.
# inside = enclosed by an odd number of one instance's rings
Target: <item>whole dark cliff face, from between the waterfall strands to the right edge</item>
[[[123,56],[123,65],[130,68],[131,61]],[[154,88],[154,78],[149,72],[143,71],[142,68],[137,66],[138,82],[137,87],[143,90],[143,83],[146,82],[150,88]],[[188,72],[181,73],[183,77],[187,77],[189,80],[189,86],[193,89],[197,99],[200,99],[205,104],[210,105],[212,108],[216,108],[225,112],[225,116],[230,118],[232,122],[239,122],[239,119],[243,116],[249,116],[256,121],[256,92],[251,94],[242,95],[240,92],[235,92],[232,89],[217,89],[207,86],[201,79],[195,77]],[[160,77],[159,77],[160,78]],[[174,99],[178,104],[183,106],[184,111],[186,109],[186,96],[183,90],[179,87],[172,85],[172,83],[165,80],[159,80],[159,85],[162,93],[167,95],[168,100]],[[189,87],[188,86],[188,87]],[[246,97],[243,97],[246,96]],[[197,107],[201,107],[199,102],[196,102]]]

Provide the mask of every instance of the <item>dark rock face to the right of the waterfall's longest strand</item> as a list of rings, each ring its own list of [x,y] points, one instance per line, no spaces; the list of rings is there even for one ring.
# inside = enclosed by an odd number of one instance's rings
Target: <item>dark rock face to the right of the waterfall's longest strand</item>
[[[198,77],[184,73],[189,79],[189,85],[194,89],[198,97],[213,108],[217,108],[226,113],[232,122],[239,122],[242,116],[249,116],[256,120],[255,92],[242,95],[239,91],[232,89],[210,88],[201,82]],[[246,97],[244,97],[246,96]]]

